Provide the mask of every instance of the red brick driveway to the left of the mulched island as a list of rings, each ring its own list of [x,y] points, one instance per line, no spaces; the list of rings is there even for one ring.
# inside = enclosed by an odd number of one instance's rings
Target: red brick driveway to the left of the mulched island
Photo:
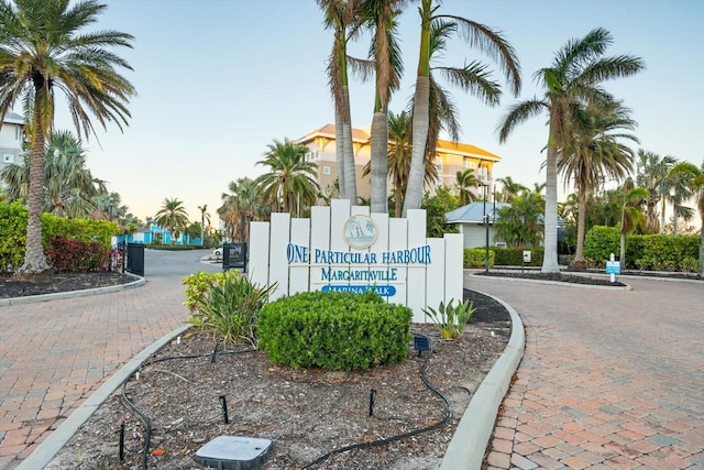
[[[106,378],[183,325],[179,281],[0,307],[0,469],[16,467]]]

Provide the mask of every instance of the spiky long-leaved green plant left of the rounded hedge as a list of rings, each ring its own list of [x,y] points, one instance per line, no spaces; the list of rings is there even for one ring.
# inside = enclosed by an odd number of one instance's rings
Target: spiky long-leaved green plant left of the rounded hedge
[[[204,287],[202,283],[198,288]],[[260,287],[237,273],[224,273],[221,282],[210,282],[202,295],[191,297],[191,314],[187,324],[212,332],[226,341],[246,341],[256,345],[257,313],[276,284]]]

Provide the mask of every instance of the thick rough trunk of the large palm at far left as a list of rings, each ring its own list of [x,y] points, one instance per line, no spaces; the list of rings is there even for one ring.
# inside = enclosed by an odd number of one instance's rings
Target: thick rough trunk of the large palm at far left
[[[46,263],[42,247],[42,206],[44,204],[44,125],[38,105],[40,89],[34,101],[34,140],[30,151],[29,215],[26,222],[26,245],[24,262],[18,269],[15,277],[32,282],[51,282],[54,271]]]

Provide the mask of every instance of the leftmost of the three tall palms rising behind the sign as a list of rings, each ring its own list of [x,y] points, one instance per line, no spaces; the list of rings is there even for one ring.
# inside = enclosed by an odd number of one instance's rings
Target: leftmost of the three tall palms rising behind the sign
[[[356,173],[352,147],[352,117],[348,78],[348,42],[360,28],[359,0],[317,0],[324,12],[326,28],[332,29],[334,39],[328,59],[328,84],[334,100],[336,154],[340,195],[356,203]],[[348,31],[350,30],[350,31]]]

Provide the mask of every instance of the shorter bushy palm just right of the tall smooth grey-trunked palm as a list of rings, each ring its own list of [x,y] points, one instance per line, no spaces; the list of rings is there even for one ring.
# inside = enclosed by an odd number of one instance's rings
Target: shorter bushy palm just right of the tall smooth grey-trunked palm
[[[631,134],[619,130],[634,130],[636,122],[630,110],[620,102],[594,103],[576,109],[572,139],[559,153],[558,172],[564,176],[565,186],[573,182],[578,192],[576,251],[572,269],[586,269],[584,234],[586,233],[586,200],[588,195],[609,178],[622,179],[631,170],[634,151],[620,140],[638,142]]]

